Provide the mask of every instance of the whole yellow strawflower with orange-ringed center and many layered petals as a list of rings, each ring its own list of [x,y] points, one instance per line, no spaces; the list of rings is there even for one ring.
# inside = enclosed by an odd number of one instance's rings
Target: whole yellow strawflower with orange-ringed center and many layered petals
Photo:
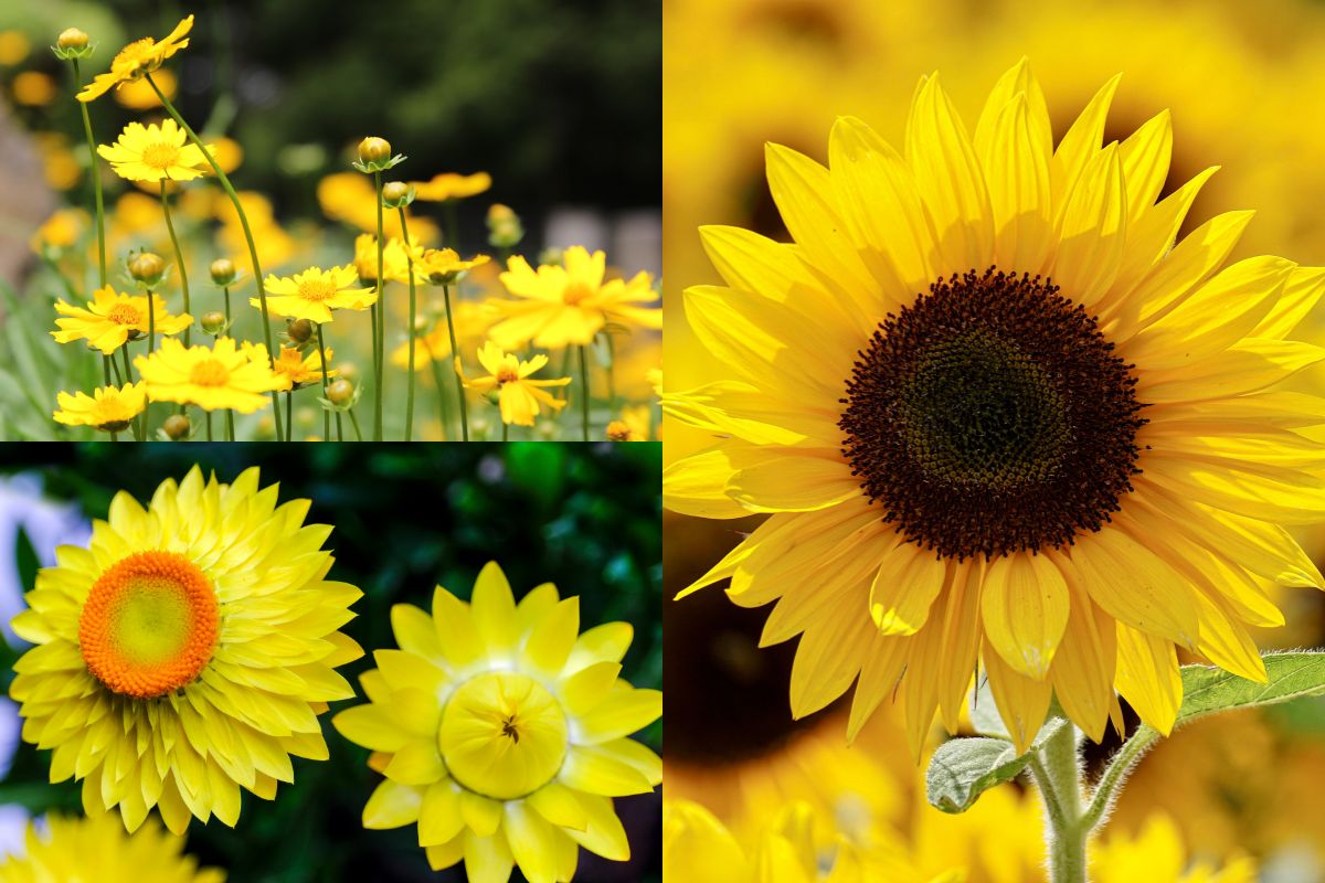
[[[83,782],[83,809],[119,806],[130,831],[152,806],[233,826],[240,786],[264,800],[290,755],[327,757],[318,715],[354,695],[334,669],[362,655],[338,629],[362,594],[327,581],[331,528],[307,500],[277,507],[258,470],[233,485],[196,466],[143,508],[127,492],[87,548],[56,551],[15,631],[9,695],[23,736],[53,748],[50,781]]]

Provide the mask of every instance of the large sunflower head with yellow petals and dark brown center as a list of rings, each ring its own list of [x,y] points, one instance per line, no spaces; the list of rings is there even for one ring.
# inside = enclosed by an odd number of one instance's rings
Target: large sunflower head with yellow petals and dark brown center
[[[1284,335],[1325,271],[1224,269],[1249,213],[1174,246],[1208,171],[1155,204],[1169,115],[1101,147],[1110,81],[1052,147],[1023,61],[974,136],[921,81],[905,156],[840,119],[829,168],[770,146],[795,245],[705,229],[730,287],[686,291],[725,371],[668,412],[727,437],[668,469],[669,503],[772,516],[693,586],[778,600],[796,715],[857,679],[918,753],[978,661],[1020,748],[1056,694],[1092,739],[1117,690],[1167,733],[1175,647],[1264,679],[1273,582],[1325,586],[1283,523],[1325,512],[1322,402],[1272,387],[1325,359]],[[814,576],[811,576],[814,575]]]

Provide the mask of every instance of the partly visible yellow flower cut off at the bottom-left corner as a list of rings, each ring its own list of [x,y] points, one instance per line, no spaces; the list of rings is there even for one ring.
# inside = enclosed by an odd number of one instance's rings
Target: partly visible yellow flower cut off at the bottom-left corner
[[[225,871],[200,868],[184,838],[148,823],[132,837],[107,814],[46,815],[29,822],[23,847],[0,859],[0,883],[225,883]]]

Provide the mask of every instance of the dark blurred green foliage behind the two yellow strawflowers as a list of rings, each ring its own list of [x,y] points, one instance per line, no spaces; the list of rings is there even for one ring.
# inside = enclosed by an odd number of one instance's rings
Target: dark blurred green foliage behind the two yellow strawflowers
[[[309,523],[333,524],[327,543],[331,579],[364,592],[344,631],[370,651],[394,647],[390,609],[428,608],[435,584],[468,597],[489,560],[506,571],[517,597],[539,582],[579,594],[582,627],[612,620],[635,625],[623,676],[661,686],[661,446],[639,445],[5,445],[0,475],[41,475],[45,495],[77,502],[103,518],[123,488],[146,500],[166,478],[193,463],[232,481],[261,466],[262,486],[281,483],[281,500],[309,498]],[[4,514],[0,512],[0,516]],[[19,540],[23,584],[36,560]],[[7,556],[0,556],[7,557]],[[0,641],[3,643],[3,641]],[[13,659],[5,645],[5,690]],[[366,657],[341,669],[358,688]],[[331,714],[352,702],[333,703]],[[232,883],[330,880],[462,880],[458,868],[433,874],[415,827],[366,831],[360,813],[380,776],[367,749],[344,740],[322,718],[331,760],[295,759],[294,784],[276,801],[245,794],[238,825],[193,822],[188,851],[229,868]],[[640,739],[661,749],[662,723]],[[80,810],[80,786],[48,785],[49,752],[24,744],[0,782],[0,805],[33,813]],[[617,801],[631,837],[632,860],[615,863],[580,851],[580,883],[661,880],[660,794]],[[518,872],[515,880],[522,879]]]

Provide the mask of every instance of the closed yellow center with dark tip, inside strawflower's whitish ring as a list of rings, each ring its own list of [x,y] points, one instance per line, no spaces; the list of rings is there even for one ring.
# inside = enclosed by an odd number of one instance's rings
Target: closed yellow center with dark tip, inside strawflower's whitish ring
[[[566,714],[529,675],[492,671],[470,678],[441,712],[437,745],[464,788],[517,800],[553,781],[566,760]]]

